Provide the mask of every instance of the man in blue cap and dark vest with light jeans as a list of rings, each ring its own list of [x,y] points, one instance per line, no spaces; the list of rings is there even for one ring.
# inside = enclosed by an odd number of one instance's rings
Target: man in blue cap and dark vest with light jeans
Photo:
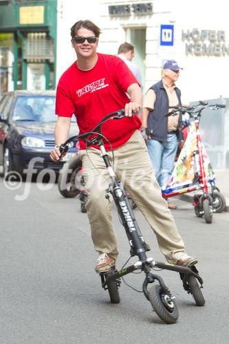
[[[182,140],[182,127],[179,125],[182,114],[167,116],[169,107],[182,105],[181,92],[175,86],[180,69],[174,60],[164,64],[164,77],[150,87],[142,109],[142,134],[161,187],[171,177],[177,145]],[[176,206],[168,202],[168,208]]]

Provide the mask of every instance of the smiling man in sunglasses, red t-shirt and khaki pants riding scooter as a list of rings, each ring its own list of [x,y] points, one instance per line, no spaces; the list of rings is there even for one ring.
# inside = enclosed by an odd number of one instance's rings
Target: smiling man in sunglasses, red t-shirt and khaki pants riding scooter
[[[142,91],[138,80],[117,56],[96,52],[100,29],[91,21],[78,21],[71,29],[75,61],[61,76],[56,90],[56,146],[50,157],[61,158],[60,144],[67,140],[72,114],[76,115],[80,134],[91,131],[107,114],[124,108],[125,117],[108,120],[102,134],[110,158],[116,163],[118,178],[153,228],[160,249],[172,264],[187,266],[197,259],[186,255],[171,212],[162,198],[144,139],[139,131],[137,114],[142,106]],[[126,92],[129,94],[127,96]],[[108,143],[109,142],[109,143]],[[88,193],[87,215],[91,237],[99,257],[96,272],[107,272],[116,264],[118,242],[112,224],[111,204],[105,197],[109,175],[98,147],[87,147],[80,141],[85,187]],[[141,185],[136,182],[141,177]],[[85,252],[87,254],[87,252]]]

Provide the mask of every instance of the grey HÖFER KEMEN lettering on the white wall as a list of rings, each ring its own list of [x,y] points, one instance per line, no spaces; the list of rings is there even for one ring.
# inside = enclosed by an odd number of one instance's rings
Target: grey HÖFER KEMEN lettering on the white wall
[[[229,45],[225,43],[223,30],[182,30],[182,41],[188,41],[185,45],[186,55],[229,56]]]

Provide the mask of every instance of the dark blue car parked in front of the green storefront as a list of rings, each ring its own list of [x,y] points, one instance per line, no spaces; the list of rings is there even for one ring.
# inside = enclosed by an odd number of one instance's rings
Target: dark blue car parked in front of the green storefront
[[[10,171],[23,175],[30,160],[37,157],[43,159],[35,161],[34,169],[48,168],[58,173],[64,162],[76,153],[73,144],[64,160],[57,163],[50,160],[50,151],[55,144],[55,99],[54,91],[27,90],[8,92],[1,98],[0,164],[4,176]],[[77,133],[78,126],[72,123],[70,136]]]

